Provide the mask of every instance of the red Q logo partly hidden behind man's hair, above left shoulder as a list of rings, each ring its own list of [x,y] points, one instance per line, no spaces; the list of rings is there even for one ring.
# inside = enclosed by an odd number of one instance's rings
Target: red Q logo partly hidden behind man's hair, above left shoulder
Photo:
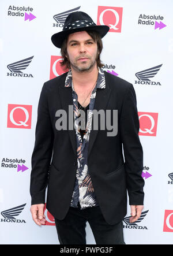
[[[60,76],[63,73],[69,71],[68,69],[64,70],[61,67],[61,65],[60,65],[61,61],[62,61],[61,56],[51,56],[50,79]]]

